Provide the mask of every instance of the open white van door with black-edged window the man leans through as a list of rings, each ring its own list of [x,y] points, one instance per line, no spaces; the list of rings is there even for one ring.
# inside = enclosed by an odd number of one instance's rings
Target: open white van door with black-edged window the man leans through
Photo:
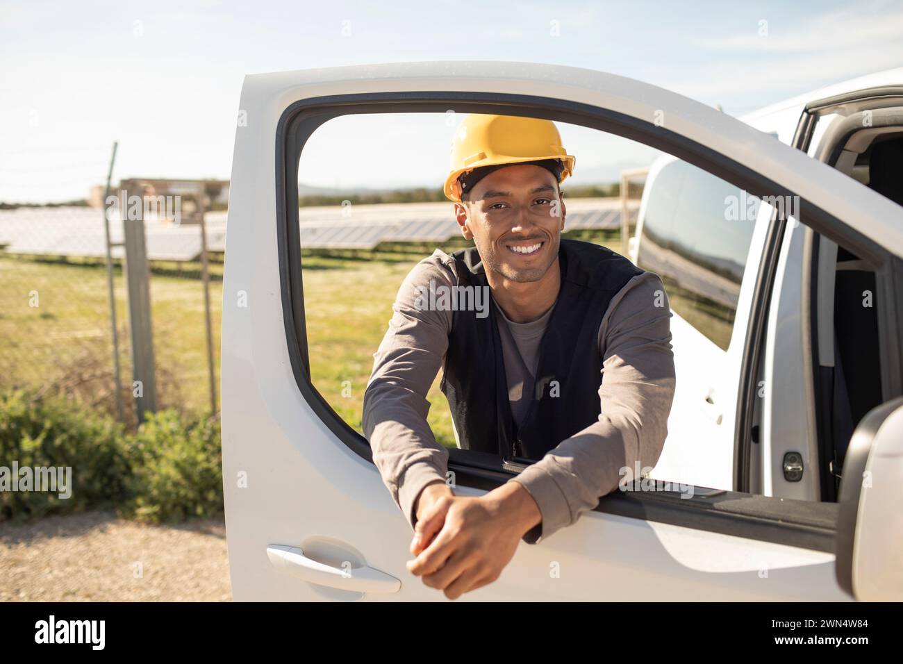
[[[521,113],[594,126],[750,192],[798,195],[820,232],[854,228],[876,251],[903,255],[897,206],[739,120],[636,80],[506,62],[247,77],[229,194],[221,372],[237,600],[444,599],[407,573],[410,528],[367,442],[313,388],[304,328],[295,170],[304,141],[330,117],[402,110]],[[462,495],[510,477],[466,454],[452,454],[452,462]],[[903,490],[895,491],[899,498]],[[616,492],[570,528],[519,547],[496,583],[464,598],[848,597],[834,577],[833,506],[733,491],[687,496]]]

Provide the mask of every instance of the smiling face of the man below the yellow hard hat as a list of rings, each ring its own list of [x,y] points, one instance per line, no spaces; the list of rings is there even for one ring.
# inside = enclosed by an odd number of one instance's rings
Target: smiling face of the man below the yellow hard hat
[[[542,166],[513,164],[489,173],[467,201],[455,204],[455,214],[487,272],[539,281],[558,259],[564,204],[554,175]]]

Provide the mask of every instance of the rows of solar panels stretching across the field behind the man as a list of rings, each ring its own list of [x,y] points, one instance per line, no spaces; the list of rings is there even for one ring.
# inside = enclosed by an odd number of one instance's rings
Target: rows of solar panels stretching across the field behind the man
[[[636,207],[631,216],[636,217]],[[103,257],[106,254],[101,210],[91,208],[20,208],[0,210],[0,248],[6,253]],[[206,217],[207,247],[226,249],[226,212]],[[110,220],[113,242],[122,240],[116,210]],[[127,223],[127,222],[126,222]],[[144,222],[147,254],[152,260],[190,261],[200,257],[200,226]],[[460,229],[449,203],[331,206],[299,210],[302,248],[373,249],[382,242],[436,242],[458,237]],[[567,203],[565,229],[618,229],[617,199],[577,199]],[[113,248],[121,257],[122,248]]]

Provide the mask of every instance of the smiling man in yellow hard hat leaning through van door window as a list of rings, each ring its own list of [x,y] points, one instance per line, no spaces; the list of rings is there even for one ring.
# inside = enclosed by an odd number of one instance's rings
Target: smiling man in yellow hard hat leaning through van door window
[[[622,468],[654,466],[665,442],[665,288],[609,249],[561,239],[573,165],[551,121],[467,117],[444,191],[475,247],[414,267],[374,355],[364,432],[414,527],[408,569],[452,599],[498,578],[521,538],[593,509]],[[424,293],[456,286],[486,289],[491,304],[424,306],[440,301]],[[454,495],[426,422],[440,368],[461,448],[535,460],[479,498]]]

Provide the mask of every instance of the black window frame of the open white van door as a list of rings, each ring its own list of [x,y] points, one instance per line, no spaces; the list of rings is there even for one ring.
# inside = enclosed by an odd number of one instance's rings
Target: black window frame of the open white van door
[[[424,90],[415,92],[367,92],[337,94],[305,98],[284,109],[275,132],[275,191],[279,274],[283,304],[283,322],[293,375],[305,401],[314,413],[336,435],[342,444],[372,463],[368,441],[348,426],[332,409],[312,384],[307,332],[303,306],[303,264],[298,219],[297,175],[303,146],[316,129],[332,119],[344,115],[375,113],[433,112],[498,113],[527,117],[543,117],[573,125],[598,129],[616,136],[655,147],[667,154],[694,164],[708,173],[731,182],[752,195],[793,195],[770,181],[766,176],[720,154],[705,145],[671,132],[664,126],[630,117],[607,108],[559,98],[504,92],[457,92]],[[859,248],[864,257],[886,265],[889,254],[883,248],[845,226],[826,211],[800,197],[801,213],[807,221],[829,238],[842,238]],[[738,424],[743,397],[751,390],[750,360],[756,359],[762,330],[754,329],[762,304],[767,307],[770,293],[768,266],[770,256],[777,257],[775,238],[783,234],[783,220],[773,219],[764,259],[759,263],[759,275],[753,300],[753,314],[747,331],[744,371],[738,399]],[[836,240],[835,240],[836,241]],[[899,260],[897,259],[899,263]],[[903,270],[901,270],[903,272]],[[771,275],[773,277],[773,274]],[[903,296],[903,293],[900,294]],[[767,308],[765,309],[767,311]],[[758,336],[758,338],[757,338]],[[753,363],[752,367],[755,366]],[[751,416],[751,412],[750,412]],[[738,429],[739,430],[739,429]],[[735,438],[735,479],[745,472],[749,476],[749,448],[745,451]],[[745,454],[745,459],[743,457]],[[486,454],[481,458],[472,452],[450,449],[449,469],[455,472],[458,484],[491,490],[515,476],[505,470],[500,458]],[[833,552],[837,510],[834,503],[810,503],[803,500],[780,500],[754,496],[737,485],[739,491],[700,491],[692,499],[669,491],[614,491],[600,499],[596,511],[631,519],[644,519],[687,528],[718,532],[742,538],[770,541],[794,547]]]

